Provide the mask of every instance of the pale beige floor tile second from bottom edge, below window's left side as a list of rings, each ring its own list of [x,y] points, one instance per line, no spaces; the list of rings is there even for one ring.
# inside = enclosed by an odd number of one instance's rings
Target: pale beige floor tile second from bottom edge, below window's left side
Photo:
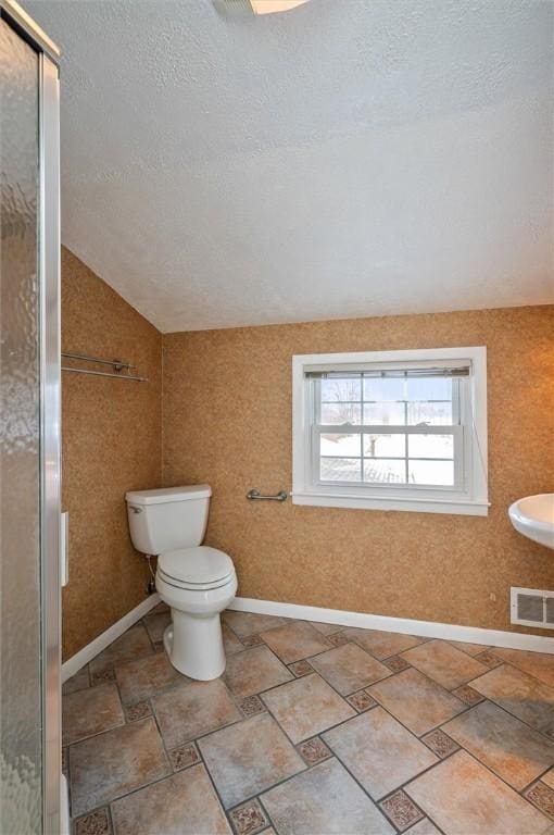
[[[294,744],[315,736],[356,712],[318,675],[304,675],[262,695]]]

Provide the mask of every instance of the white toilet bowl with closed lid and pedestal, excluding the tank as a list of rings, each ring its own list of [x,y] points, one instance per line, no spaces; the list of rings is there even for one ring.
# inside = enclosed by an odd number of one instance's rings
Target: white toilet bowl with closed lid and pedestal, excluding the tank
[[[206,546],[161,554],[155,587],[172,610],[164,647],[173,666],[198,681],[217,678],[225,670],[219,613],[237,593],[230,557]]]

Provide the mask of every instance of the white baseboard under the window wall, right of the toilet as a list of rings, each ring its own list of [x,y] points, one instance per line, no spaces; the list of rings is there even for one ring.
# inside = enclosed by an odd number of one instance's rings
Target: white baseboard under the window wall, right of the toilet
[[[229,609],[235,609],[238,612],[276,614],[282,618],[297,618],[301,621],[335,623],[339,626],[383,630],[386,632],[400,632],[405,635],[421,635],[426,638],[461,640],[468,644],[486,644],[490,647],[527,649],[531,652],[554,655],[554,638],[547,638],[544,635],[483,630],[479,626],[457,626],[452,623],[436,623],[435,621],[413,621],[406,618],[389,618],[383,614],[365,614],[364,612],[349,612],[341,609],[320,609],[316,606],[279,603],[275,600],[256,600],[252,597],[236,597]]]

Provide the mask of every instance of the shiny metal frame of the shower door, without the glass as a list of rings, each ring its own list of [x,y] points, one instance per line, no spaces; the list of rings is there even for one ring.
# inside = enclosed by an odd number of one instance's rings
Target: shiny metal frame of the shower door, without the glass
[[[2,18],[38,57],[42,831],[61,830],[60,53],[14,0]]]

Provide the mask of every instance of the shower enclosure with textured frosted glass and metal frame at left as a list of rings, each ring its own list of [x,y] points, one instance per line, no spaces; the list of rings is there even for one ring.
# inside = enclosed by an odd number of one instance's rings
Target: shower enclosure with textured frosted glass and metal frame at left
[[[0,11],[0,833],[58,835],[58,50]]]

